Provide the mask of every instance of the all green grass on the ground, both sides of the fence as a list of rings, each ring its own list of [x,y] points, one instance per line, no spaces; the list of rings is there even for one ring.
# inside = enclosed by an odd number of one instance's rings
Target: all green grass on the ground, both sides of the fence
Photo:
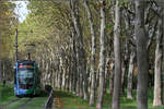
[[[43,93],[43,92],[42,92]],[[13,93],[12,85],[5,85],[3,87],[0,84],[0,104],[7,106],[13,99],[16,99]],[[30,102],[24,109],[43,109],[45,101],[47,99],[46,93],[43,93],[42,97],[35,97],[34,101]],[[68,92],[55,90],[55,95],[59,97],[60,105],[56,105],[56,109],[95,109],[95,106],[91,107],[89,101],[84,101],[82,98],[74,96]],[[126,95],[126,94],[125,94]],[[121,109],[137,109],[137,93],[133,90],[133,99],[127,99],[126,96],[121,96],[120,98],[120,108]],[[16,109],[20,105],[22,105],[27,98],[22,98],[19,101],[15,101],[8,106],[8,109]],[[164,109],[164,106],[153,107],[153,89],[149,92],[149,109]],[[56,101],[57,104],[57,101]],[[103,109],[109,109],[112,106],[112,96],[107,93],[104,96]],[[35,107],[35,108],[34,108]]]

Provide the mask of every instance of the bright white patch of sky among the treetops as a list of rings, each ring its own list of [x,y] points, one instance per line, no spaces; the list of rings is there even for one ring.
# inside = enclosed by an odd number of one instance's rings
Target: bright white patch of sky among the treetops
[[[26,15],[30,12],[26,8],[28,2],[27,1],[14,1],[14,3],[16,4],[16,8],[14,11],[19,15],[19,21],[22,23],[26,19]]]

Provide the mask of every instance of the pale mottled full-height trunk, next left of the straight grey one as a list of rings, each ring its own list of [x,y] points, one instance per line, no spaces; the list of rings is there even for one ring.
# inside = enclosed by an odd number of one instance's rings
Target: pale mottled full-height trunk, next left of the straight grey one
[[[99,85],[97,94],[96,109],[102,109],[103,107],[103,96],[104,96],[104,76],[105,76],[105,0],[99,0],[101,4],[101,52],[99,52]]]

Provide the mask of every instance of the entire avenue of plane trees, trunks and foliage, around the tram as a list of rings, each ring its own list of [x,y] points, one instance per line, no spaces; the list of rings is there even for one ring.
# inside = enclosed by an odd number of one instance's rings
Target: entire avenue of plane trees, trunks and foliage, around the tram
[[[153,106],[164,104],[164,2],[32,0],[23,23],[10,20],[16,16],[14,4],[5,9],[5,2],[0,2],[0,21],[5,21],[0,23],[1,81],[13,80],[17,27],[19,59],[31,52],[43,86],[70,92],[96,109],[102,109],[106,93],[112,109],[120,108],[122,95],[136,99],[138,109],[148,109],[150,89]]]

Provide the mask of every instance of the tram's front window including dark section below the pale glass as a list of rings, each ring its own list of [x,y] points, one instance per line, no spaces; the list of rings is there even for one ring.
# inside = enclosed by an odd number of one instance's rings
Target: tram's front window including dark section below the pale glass
[[[33,70],[19,70],[17,73],[20,88],[28,89],[34,84],[34,71]]]

